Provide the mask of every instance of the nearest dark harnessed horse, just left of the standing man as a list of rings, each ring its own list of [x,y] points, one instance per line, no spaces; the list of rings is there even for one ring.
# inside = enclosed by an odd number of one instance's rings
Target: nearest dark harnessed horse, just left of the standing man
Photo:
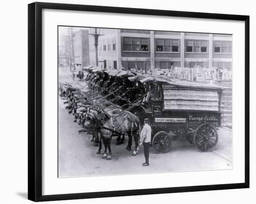
[[[112,136],[118,136],[121,134],[128,135],[129,140],[127,149],[131,148],[132,137],[134,137],[135,149],[132,155],[137,155],[141,125],[139,118],[133,113],[121,111],[121,109],[118,108],[112,110],[111,114],[103,110],[88,109],[84,126],[88,126],[88,122],[90,126],[93,126],[92,124],[97,124],[95,127],[98,128],[101,133],[101,139],[105,147],[102,158],[106,158],[107,160],[111,159],[111,138]],[[99,151],[101,151],[101,145]]]

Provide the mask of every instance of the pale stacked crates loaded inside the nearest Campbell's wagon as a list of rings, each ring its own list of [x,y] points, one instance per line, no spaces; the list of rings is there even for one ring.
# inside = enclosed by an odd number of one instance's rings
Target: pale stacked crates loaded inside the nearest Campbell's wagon
[[[164,89],[164,110],[219,111],[216,90]]]

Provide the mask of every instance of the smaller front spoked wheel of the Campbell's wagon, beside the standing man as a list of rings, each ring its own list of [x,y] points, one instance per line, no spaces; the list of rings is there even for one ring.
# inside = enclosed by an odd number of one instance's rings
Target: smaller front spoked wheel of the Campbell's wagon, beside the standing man
[[[158,153],[165,153],[170,149],[171,138],[167,132],[157,132],[152,140],[153,148]]]

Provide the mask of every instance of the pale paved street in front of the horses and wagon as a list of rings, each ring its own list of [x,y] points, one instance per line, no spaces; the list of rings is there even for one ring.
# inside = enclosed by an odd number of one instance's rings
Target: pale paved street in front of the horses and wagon
[[[96,154],[97,147],[89,141],[91,135],[78,134],[81,129],[73,122],[62,99],[59,99],[59,177],[96,176],[110,174],[134,174],[163,171],[201,171],[232,168],[232,136],[227,129],[220,129],[219,141],[212,152],[201,152],[185,138],[171,144],[171,150],[157,154],[150,147],[149,166],[143,167],[143,147],[132,157],[125,149],[128,138],[122,145],[115,145],[112,138],[112,160],[102,159]],[[133,144],[134,147],[134,144]]]

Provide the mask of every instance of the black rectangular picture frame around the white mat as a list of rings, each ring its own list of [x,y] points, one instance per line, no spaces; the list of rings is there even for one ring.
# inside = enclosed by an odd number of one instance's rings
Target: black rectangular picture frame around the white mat
[[[244,183],[184,186],[126,191],[42,195],[42,9],[174,16],[245,22],[245,175]],[[53,201],[97,197],[134,196],[188,191],[249,188],[249,16],[141,8],[103,7],[35,2],[28,5],[28,199]]]

